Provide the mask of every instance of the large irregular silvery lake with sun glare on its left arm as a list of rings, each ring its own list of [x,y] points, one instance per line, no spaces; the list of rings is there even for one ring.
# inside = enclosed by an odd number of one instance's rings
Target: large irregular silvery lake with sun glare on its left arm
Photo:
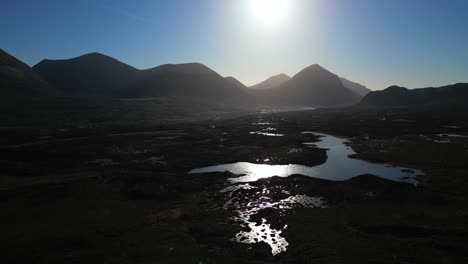
[[[371,163],[349,158],[349,155],[356,154],[356,152],[345,144],[347,142],[346,139],[327,134],[314,134],[320,136],[320,142],[304,143],[310,147],[318,147],[327,150],[328,159],[322,165],[308,167],[297,164],[266,165],[237,162],[198,168],[190,171],[189,173],[199,174],[229,171],[235,175],[239,175],[239,177],[230,179],[231,182],[234,183],[253,182],[272,176],[288,177],[294,174],[333,181],[344,181],[359,175],[371,174],[381,178],[407,182],[415,185],[417,184],[417,176],[423,175],[423,172],[420,170]]]

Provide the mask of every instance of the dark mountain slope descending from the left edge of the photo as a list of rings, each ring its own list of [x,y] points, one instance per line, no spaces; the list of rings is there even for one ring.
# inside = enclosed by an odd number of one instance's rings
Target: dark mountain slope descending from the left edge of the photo
[[[53,96],[52,89],[41,77],[23,62],[0,49],[0,87],[2,98]]]

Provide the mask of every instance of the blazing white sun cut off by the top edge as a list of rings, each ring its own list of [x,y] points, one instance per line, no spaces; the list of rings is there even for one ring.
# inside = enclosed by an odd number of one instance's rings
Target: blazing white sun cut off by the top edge
[[[258,23],[277,25],[288,15],[291,0],[249,0],[250,12]]]

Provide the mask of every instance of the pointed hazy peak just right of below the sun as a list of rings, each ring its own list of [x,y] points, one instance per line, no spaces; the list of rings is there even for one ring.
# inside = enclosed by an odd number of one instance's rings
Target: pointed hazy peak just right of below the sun
[[[318,64],[305,68],[279,87],[257,94],[273,104],[310,107],[347,106],[362,98],[346,88],[337,75]]]

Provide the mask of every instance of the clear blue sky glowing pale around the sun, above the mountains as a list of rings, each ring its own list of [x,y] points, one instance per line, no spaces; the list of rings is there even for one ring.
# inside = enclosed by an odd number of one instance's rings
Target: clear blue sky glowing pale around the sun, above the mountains
[[[101,52],[137,68],[201,62],[251,85],[318,63],[372,89],[468,82],[466,0],[7,0],[0,48],[29,65]]]

